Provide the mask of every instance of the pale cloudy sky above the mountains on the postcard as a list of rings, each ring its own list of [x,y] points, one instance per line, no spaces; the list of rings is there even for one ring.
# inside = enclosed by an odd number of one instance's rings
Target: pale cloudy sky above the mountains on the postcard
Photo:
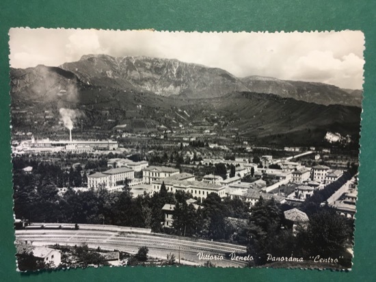
[[[364,34],[325,32],[115,31],[12,28],[10,66],[59,66],[82,55],[144,55],[223,68],[237,77],[260,75],[362,89]]]

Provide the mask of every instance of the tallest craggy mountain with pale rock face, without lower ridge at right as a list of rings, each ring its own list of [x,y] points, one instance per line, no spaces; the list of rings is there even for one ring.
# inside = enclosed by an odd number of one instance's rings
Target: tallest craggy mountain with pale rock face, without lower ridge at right
[[[247,90],[237,77],[224,70],[178,60],[85,55],[78,62],[63,64],[61,68],[75,73],[86,84],[133,88],[161,96],[211,98]]]

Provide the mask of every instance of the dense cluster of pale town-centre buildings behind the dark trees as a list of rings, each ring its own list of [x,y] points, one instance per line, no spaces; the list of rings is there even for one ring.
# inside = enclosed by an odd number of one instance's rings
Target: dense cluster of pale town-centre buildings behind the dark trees
[[[128,179],[136,183],[135,188],[137,184],[142,183],[148,193],[159,192],[161,186],[165,185],[167,192],[189,193],[198,203],[202,203],[209,194],[215,193],[221,198],[241,198],[252,206],[257,203],[260,196],[265,199],[274,198],[279,203],[303,202],[312,196],[315,190],[324,188],[343,175],[343,170],[334,170],[323,165],[306,167],[299,162],[273,159],[271,155],[260,157],[260,164],[250,163],[244,159],[204,159],[203,163],[232,164],[235,166],[235,175],[229,177],[230,170],[228,170],[226,179],[219,175],[209,174],[204,175],[202,180],[198,181],[194,175],[180,173],[177,168],[148,166],[146,161],[133,162],[130,159],[113,158],[108,160],[109,170],[88,175],[88,188],[103,187],[116,190],[114,188],[121,188]],[[271,164],[274,165],[271,166],[273,168],[269,168]],[[142,178],[140,178],[141,174],[135,178],[135,172],[142,172]],[[267,183],[263,179],[258,179],[254,182],[243,182],[243,177],[251,173],[255,176],[267,175],[273,181]],[[280,187],[283,185],[293,185],[293,191],[290,190],[289,194],[280,193]],[[341,202],[344,209],[349,209],[348,205],[351,205],[349,202],[354,198],[351,198],[353,194],[354,192],[349,192],[350,200],[343,199]],[[336,206],[340,208],[339,202],[336,202]],[[171,209],[172,206],[166,206],[167,208]],[[165,224],[168,225],[166,222]]]

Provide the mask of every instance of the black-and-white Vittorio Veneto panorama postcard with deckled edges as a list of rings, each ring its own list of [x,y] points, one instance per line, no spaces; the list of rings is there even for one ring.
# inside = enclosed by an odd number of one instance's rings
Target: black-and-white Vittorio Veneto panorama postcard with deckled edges
[[[361,31],[9,34],[18,270],[351,269]]]

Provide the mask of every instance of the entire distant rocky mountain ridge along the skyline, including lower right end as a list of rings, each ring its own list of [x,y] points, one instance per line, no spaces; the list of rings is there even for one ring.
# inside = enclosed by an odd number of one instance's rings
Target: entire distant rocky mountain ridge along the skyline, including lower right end
[[[146,56],[112,57],[83,55],[77,62],[60,66],[81,80],[100,86],[129,87],[162,96],[181,95],[188,99],[221,97],[232,91],[277,94],[323,105],[361,106],[360,92],[307,81],[290,81],[273,77],[235,77],[221,68]],[[88,75],[91,74],[91,77]],[[103,81],[107,77],[107,82]],[[111,83],[109,82],[111,81]]]

